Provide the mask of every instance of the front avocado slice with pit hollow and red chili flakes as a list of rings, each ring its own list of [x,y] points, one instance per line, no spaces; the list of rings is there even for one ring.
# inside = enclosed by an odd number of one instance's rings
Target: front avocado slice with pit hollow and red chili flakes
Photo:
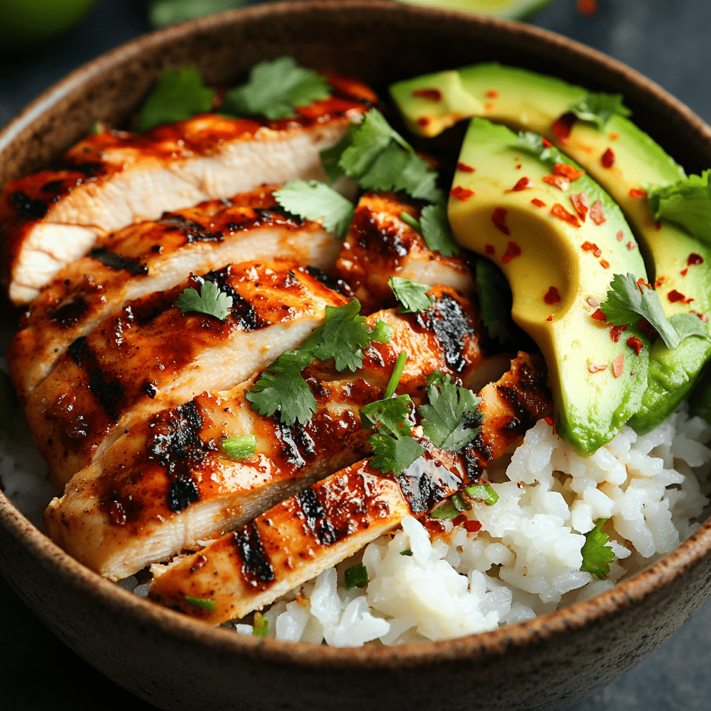
[[[504,126],[471,120],[459,156],[464,170],[456,172],[449,198],[449,221],[461,244],[488,257],[506,275],[513,320],[538,344],[547,363],[557,431],[581,454],[592,454],[641,407],[649,358],[648,341],[636,328],[614,343],[609,326],[592,314],[613,274],[631,272],[646,279],[646,271],[639,250],[626,247],[634,237],[609,196],[587,176],[572,181],[566,191],[545,183],[542,178],[550,176],[552,166],[511,147],[515,139]],[[513,191],[524,177],[533,186]],[[459,188],[474,194],[467,198]],[[588,214],[574,227],[551,213],[558,204],[574,215],[570,196],[580,192],[591,205],[601,201],[602,225]],[[624,241],[617,239],[620,231]],[[518,250],[520,255],[510,257]],[[550,296],[554,303],[546,301],[551,287],[560,294],[557,303]],[[631,336],[645,344],[639,355],[626,345]],[[616,378],[612,363],[620,354],[624,368]]]

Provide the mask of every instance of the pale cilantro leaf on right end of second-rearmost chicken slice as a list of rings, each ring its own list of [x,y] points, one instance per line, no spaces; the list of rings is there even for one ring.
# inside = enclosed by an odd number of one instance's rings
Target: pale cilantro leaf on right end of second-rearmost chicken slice
[[[274,199],[292,215],[306,220],[324,220],[324,229],[339,239],[348,234],[353,220],[353,203],[326,183],[292,180],[274,191]]]

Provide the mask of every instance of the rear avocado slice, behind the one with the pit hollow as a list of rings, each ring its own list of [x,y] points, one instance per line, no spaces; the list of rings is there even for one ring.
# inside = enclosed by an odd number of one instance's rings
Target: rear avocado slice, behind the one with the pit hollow
[[[577,161],[609,193],[639,240],[665,316],[691,310],[701,314],[711,311],[711,248],[666,220],[657,225],[646,198],[630,195],[631,190],[667,186],[685,177],[683,168],[661,146],[617,115],[609,119],[604,131],[594,124],[574,122],[567,142],[562,144],[552,130],[553,124],[569,111],[570,105],[589,93],[586,89],[497,63],[466,67],[459,70],[459,75],[462,87],[483,102],[483,114],[476,115],[516,130],[541,134]],[[428,75],[424,83],[436,87],[437,75]],[[412,107],[406,84],[393,85],[391,93],[408,124],[417,131],[417,122],[423,124],[422,119],[427,117],[427,107]],[[608,148],[615,155],[611,168],[602,164],[602,155]],[[689,265],[690,255],[698,255],[702,262]],[[677,296],[673,292],[693,300],[673,301]],[[688,395],[710,356],[711,342],[703,338],[685,338],[675,351],[661,342],[655,343],[649,387],[639,411],[630,419],[631,427],[643,433],[661,424]]]

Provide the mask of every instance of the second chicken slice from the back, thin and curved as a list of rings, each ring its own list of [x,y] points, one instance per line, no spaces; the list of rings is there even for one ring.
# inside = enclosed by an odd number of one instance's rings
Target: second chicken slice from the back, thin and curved
[[[270,188],[124,228],[64,267],[29,306],[7,352],[18,397],[26,402],[70,343],[132,299],[170,289],[191,272],[251,260],[332,269],[340,247],[319,223],[285,213]]]

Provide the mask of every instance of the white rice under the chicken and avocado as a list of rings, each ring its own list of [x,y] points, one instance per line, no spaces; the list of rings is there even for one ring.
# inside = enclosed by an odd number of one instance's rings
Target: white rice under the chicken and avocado
[[[4,359],[0,367],[6,370]],[[21,416],[13,442],[0,437],[0,482],[38,528],[54,490]],[[702,442],[711,427],[685,406],[653,432],[624,427],[583,458],[540,420],[510,456],[488,471],[493,506],[467,515],[481,530],[447,522],[431,540],[412,517],[358,556],[294,590],[264,612],[268,636],[336,646],[451,639],[496,629],[592,597],[677,547],[697,528],[708,503],[701,491],[711,467]],[[600,518],[617,560],[599,580],[581,572],[584,534]],[[401,555],[403,551],[412,555]],[[358,562],[368,585],[347,590],[343,571]],[[136,577],[123,587],[145,596]],[[227,623],[241,634],[252,625]]]

